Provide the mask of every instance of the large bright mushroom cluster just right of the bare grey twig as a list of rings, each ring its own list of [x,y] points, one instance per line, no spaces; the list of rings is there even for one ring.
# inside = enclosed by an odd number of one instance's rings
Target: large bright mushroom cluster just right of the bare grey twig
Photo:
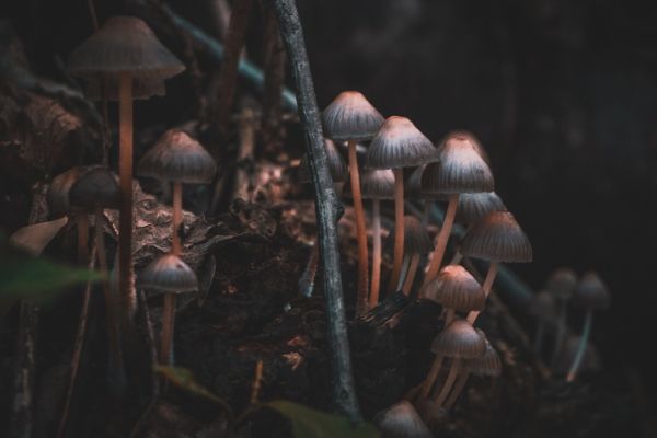
[[[435,361],[424,382],[407,396],[415,407],[408,401],[394,405],[385,412],[385,418],[379,418],[380,426],[381,422],[410,420],[410,416],[418,412],[425,418],[435,417],[456,403],[470,374],[499,374],[497,353],[473,324],[492,292],[498,264],[530,262],[531,245],[494,193],[487,157],[472,134],[451,132],[435,147],[410,119],[401,116],[384,119],[356,91],[335,97],[323,111],[322,122],[335,188],[339,191],[341,183],[345,183],[354,203],[358,244],[357,313],[364,314],[377,306],[383,295],[380,292],[380,203],[385,199],[394,199],[394,229],[389,235],[394,249],[385,293],[401,291],[407,297],[435,301],[443,309],[440,316],[443,330],[431,345]],[[341,151],[343,147],[347,148],[347,163]],[[359,157],[359,151],[365,153]],[[405,215],[405,197],[425,203],[422,218]],[[371,273],[362,199],[372,203]],[[445,220],[434,240],[427,230],[433,201],[448,203]],[[452,260],[445,264],[454,221],[468,231]],[[489,262],[482,284],[460,265],[464,257]],[[389,418],[391,415],[396,419]]]

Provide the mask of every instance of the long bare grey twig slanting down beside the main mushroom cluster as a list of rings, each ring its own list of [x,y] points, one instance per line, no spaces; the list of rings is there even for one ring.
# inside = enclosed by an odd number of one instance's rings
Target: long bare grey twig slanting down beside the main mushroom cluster
[[[333,365],[333,402],[336,410],[347,414],[353,420],[361,419],[360,408],[354,389],[349,338],[343,301],[339,254],[337,251],[337,221],[343,207],[333,189],[328,173],[324,136],[320,123],[320,112],[314,94],[312,77],[303,30],[293,0],[268,0],[278,19],[280,35],[290,58],[290,66],[297,85],[299,115],[306,135],[306,151],[315,194],[318,218],[318,243],[324,269],[324,293],[328,341]]]

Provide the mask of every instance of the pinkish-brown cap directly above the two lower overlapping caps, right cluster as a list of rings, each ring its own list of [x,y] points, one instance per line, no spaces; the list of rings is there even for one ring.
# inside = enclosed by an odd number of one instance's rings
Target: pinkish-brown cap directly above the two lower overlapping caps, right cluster
[[[447,265],[419,290],[419,296],[458,312],[484,310],[486,292],[463,266]]]

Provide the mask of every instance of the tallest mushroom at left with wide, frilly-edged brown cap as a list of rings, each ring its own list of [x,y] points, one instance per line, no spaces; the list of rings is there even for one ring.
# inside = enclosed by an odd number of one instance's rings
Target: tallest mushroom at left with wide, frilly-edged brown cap
[[[129,321],[132,273],[132,100],[164,95],[164,80],[185,67],[136,16],[114,16],[70,55],[69,71],[96,96],[119,101],[119,290]]]

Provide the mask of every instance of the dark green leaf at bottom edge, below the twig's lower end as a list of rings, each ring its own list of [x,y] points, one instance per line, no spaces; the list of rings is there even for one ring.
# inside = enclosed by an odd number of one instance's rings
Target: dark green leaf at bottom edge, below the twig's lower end
[[[376,438],[379,430],[369,423],[353,424],[349,418],[327,414],[283,400],[265,403],[292,423],[295,438]]]

